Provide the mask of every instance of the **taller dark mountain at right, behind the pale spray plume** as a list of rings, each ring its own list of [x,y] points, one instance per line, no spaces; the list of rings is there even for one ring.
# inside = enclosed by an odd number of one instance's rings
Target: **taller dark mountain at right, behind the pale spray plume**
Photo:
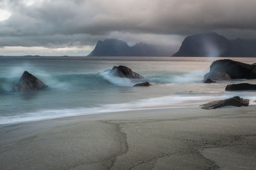
[[[230,40],[215,32],[188,36],[173,57],[256,57],[256,39]]]

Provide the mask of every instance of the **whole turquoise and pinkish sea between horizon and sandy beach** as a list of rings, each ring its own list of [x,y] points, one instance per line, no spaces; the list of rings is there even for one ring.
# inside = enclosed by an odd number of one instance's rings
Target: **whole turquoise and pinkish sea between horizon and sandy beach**
[[[225,92],[230,83],[202,83],[209,57],[0,57],[0,125],[58,117],[198,107],[214,99],[241,96],[256,104],[256,92]],[[221,58],[223,59],[223,58]],[[254,58],[234,58],[252,64]],[[145,76],[129,80],[102,73],[127,66]],[[37,92],[11,92],[24,71],[49,86]],[[152,87],[132,87],[150,81]]]

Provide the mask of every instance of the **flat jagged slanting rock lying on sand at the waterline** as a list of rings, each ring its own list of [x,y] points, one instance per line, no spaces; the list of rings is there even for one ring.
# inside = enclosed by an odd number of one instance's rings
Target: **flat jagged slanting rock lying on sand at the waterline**
[[[223,106],[248,106],[249,99],[243,99],[239,96],[231,97],[229,99],[221,100],[221,101],[213,101],[210,103],[206,103],[202,105],[202,109],[211,110],[216,108],[221,108]]]

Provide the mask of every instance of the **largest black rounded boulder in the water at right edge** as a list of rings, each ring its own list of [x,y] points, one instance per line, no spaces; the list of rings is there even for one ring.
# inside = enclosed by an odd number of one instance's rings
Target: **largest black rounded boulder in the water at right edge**
[[[216,60],[212,62],[210,72],[205,74],[204,78],[216,80],[214,79],[216,73],[228,74],[231,79],[256,79],[256,66],[230,59]],[[227,80],[227,76],[224,76],[223,78],[226,78],[224,80]]]

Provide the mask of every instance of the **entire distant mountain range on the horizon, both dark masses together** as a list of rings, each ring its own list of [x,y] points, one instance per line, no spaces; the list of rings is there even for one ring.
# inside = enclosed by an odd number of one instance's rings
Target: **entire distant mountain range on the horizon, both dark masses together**
[[[98,41],[88,56],[170,56],[171,46],[137,43],[129,46],[125,41],[105,39]],[[188,36],[172,57],[256,57],[256,39],[227,39],[215,32]]]

